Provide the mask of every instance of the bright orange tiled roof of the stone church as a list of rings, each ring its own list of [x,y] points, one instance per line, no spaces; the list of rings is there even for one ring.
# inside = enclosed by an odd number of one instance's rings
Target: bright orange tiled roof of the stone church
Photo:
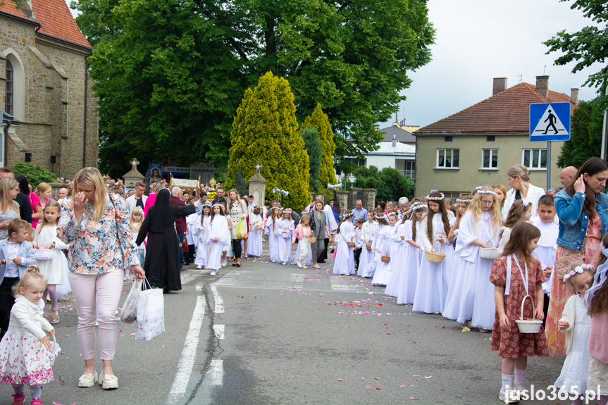
[[[70,8],[64,0],[31,0],[32,11],[36,17],[29,18],[23,11],[17,8],[13,1],[4,0],[4,5],[0,5],[0,11],[15,15],[17,17],[26,18],[28,20],[40,23],[41,27],[38,32],[49,37],[63,39],[80,46],[92,48],[87,41],[76,21],[70,13]],[[3,1],[0,1],[2,3]]]

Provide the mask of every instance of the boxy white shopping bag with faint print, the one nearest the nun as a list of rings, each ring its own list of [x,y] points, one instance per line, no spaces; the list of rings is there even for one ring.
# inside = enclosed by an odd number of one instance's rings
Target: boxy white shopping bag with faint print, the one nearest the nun
[[[147,279],[146,283],[149,286]],[[163,301],[163,290],[149,287],[140,291],[139,299],[137,300],[135,339],[151,340],[164,331],[165,304]]]

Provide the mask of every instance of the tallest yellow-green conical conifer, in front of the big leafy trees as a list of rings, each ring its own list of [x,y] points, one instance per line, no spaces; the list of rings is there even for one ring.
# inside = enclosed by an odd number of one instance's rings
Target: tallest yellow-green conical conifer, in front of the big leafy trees
[[[259,161],[268,197],[276,186],[290,192],[285,206],[299,210],[310,202],[309,156],[295,109],[289,82],[272,72],[260,77],[255,89],[245,90],[232,122],[226,187],[235,186],[237,173],[251,177]]]

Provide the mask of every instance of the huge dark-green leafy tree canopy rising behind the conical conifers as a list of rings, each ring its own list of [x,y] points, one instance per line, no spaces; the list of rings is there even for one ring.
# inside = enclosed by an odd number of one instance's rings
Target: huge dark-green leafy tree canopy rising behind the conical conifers
[[[374,149],[382,139],[374,124],[397,111],[409,70],[430,61],[426,3],[73,2],[94,45],[101,166],[128,170],[124,151],[142,164],[161,156],[225,164],[240,95],[268,70],[290,80],[300,120],[324,106],[338,163]]]

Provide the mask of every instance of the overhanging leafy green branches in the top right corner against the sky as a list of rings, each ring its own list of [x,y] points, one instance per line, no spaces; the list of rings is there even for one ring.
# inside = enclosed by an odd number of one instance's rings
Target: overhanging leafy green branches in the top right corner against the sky
[[[555,65],[564,66],[576,61],[572,73],[588,68],[596,62],[602,63],[604,67],[591,74],[583,85],[602,86],[605,89],[608,79],[608,66],[605,63],[608,58],[608,3],[603,0],[575,0],[570,8],[583,10],[583,15],[591,18],[597,25],[588,25],[574,33],[566,30],[557,32],[554,37],[543,42],[549,46],[547,54],[563,52],[563,55],[555,58]]]

